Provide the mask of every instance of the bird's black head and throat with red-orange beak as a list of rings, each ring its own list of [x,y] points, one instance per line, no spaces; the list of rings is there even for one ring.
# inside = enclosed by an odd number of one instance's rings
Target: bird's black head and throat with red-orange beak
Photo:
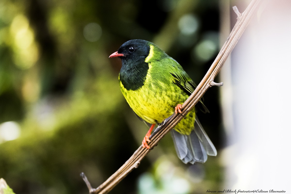
[[[146,40],[129,40],[109,56],[121,58],[119,81],[127,90],[137,90],[143,86],[149,69],[145,58],[150,54],[150,44]]]

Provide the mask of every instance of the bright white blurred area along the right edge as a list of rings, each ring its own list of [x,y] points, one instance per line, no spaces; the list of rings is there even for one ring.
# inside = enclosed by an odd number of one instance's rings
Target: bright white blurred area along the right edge
[[[291,193],[290,36],[291,1],[263,0],[223,67],[226,189]]]

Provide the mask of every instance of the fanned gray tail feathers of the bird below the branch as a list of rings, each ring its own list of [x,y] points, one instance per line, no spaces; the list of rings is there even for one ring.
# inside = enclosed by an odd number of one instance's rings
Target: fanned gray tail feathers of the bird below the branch
[[[205,133],[197,116],[195,118],[194,130],[191,131],[190,135],[183,135],[172,129],[171,136],[177,155],[185,164],[204,163],[207,160],[207,155],[216,156],[217,154],[213,143]]]

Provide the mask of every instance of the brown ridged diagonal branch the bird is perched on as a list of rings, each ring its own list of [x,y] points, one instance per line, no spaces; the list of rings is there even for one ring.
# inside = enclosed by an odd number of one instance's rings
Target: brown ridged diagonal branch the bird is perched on
[[[215,83],[213,80],[225,63],[228,55],[237,44],[239,38],[242,36],[242,33],[246,29],[246,26],[249,24],[251,16],[253,15],[255,9],[258,7],[261,1],[262,0],[251,1],[249,6],[243,13],[239,13],[236,6],[233,7],[235,13],[237,14],[237,22],[233,27],[233,30],[231,31],[228,39],[222,46],[219,54],[210,66],[210,69],[208,70],[202,81],[199,83],[191,96],[182,105],[182,114],[176,115],[174,113],[169,118],[165,119],[165,121],[161,123],[154,131],[154,133],[150,136],[151,142],[149,143],[149,145],[152,149],[173,127],[175,127],[175,125],[180,120],[182,120],[182,115],[186,115],[197,104],[197,102],[199,102],[199,100],[205,94],[208,88],[212,86],[223,85],[223,83]],[[111,189],[116,186],[124,177],[126,177],[129,172],[139,166],[141,160],[148,154],[148,152],[150,152],[150,150],[151,149],[146,149],[140,146],[113,175],[111,175],[104,183],[102,183],[97,188],[92,188],[87,177],[82,172],[81,177],[83,177],[90,194],[105,194],[111,191]]]

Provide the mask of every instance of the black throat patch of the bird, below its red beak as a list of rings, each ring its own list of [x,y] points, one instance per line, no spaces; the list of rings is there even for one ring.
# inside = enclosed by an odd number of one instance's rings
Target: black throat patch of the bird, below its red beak
[[[127,90],[137,90],[144,85],[148,73],[148,63],[144,59],[122,60],[122,67],[119,73],[119,81]]]

